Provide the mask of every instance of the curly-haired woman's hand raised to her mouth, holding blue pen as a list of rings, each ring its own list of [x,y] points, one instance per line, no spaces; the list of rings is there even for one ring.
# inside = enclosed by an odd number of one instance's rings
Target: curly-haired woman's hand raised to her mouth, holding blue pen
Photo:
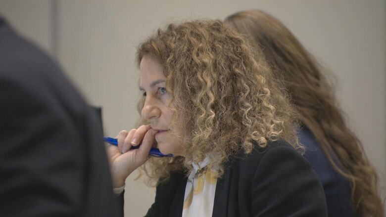
[[[122,187],[126,177],[147,161],[156,133],[157,131],[152,130],[150,125],[143,125],[130,131],[122,130],[116,137],[118,147],[113,145],[107,147],[114,188]],[[130,150],[131,146],[139,144],[141,146],[138,149]]]

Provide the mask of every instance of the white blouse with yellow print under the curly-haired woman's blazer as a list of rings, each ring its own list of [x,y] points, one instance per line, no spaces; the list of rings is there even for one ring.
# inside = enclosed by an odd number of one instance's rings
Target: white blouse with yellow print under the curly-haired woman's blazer
[[[185,188],[182,217],[210,217],[213,213],[214,194],[217,178],[206,166],[209,158],[192,164],[193,171],[188,176]]]

